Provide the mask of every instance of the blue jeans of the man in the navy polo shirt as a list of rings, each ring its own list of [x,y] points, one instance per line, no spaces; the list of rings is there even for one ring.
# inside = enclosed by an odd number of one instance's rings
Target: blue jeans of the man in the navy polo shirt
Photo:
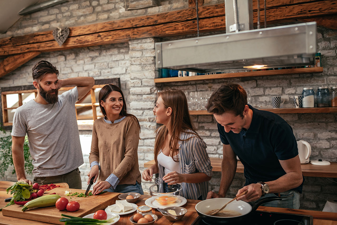
[[[279,208],[292,208],[299,209],[300,208],[300,193],[297,190],[289,190],[286,192],[280,193],[282,200],[281,201],[271,201],[262,204],[262,206],[270,206],[270,207],[279,207]],[[269,193],[261,198],[266,197],[275,197],[278,196],[278,193]],[[260,199],[261,199],[260,198]]]

